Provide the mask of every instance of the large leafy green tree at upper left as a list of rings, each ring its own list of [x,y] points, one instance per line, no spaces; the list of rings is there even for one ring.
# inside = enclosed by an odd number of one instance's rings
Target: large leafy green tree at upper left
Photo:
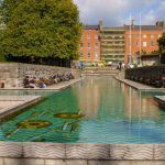
[[[72,0],[3,0],[1,55],[75,59],[81,24]]]

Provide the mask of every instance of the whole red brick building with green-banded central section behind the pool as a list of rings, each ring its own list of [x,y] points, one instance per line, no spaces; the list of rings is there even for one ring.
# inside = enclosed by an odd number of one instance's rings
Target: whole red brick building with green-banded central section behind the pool
[[[100,61],[107,64],[139,64],[140,56],[158,51],[158,37],[163,34],[164,22],[156,25],[103,26],[85,25],[79,44],[79,61],[85,65],[95,65]],[[131,36],[130,36],[131,34]]]

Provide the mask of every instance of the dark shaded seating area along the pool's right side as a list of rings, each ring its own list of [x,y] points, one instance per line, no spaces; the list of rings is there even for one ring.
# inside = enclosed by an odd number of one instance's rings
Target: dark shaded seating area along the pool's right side
[[[125,70],[125,79],[152,87],[165,88],[165,66],[129,68]]]

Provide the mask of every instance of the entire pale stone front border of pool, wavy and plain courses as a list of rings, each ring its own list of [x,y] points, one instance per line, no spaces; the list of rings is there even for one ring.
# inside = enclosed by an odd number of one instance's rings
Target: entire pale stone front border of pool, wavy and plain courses
[[[164,144],[0,142],[0,165],[164,165]]]

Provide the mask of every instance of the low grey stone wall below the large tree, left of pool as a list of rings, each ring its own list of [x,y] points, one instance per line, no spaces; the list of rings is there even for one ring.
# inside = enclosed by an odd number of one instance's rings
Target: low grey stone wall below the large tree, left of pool
[[[4,84],[4,88],[22,88],[25,76],[45,77],[57,73],[72,73],[76,78],[80,76],[79,70],[72,68],[12,63],[0,64],[0,82]]]

